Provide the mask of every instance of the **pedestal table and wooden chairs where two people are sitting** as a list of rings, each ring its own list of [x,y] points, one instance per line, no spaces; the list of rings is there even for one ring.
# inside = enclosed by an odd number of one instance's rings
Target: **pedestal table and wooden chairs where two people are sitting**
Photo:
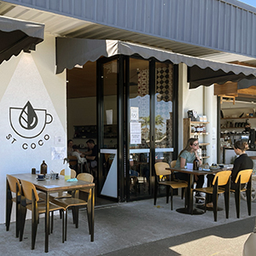
[[[252,212],[252,174],[253,169],[242,170],[238,172],[236,177],[236,189],[230,189],[230,176],[231,169],[233,166],[210,166],[210,168],[200,170],[191,168],[179,168],[176,167],[176,160],[171,162],[169,166],[168,163],[158,162],[154,165],[156,183],[154,189],[154,205],[157,200],[157,193],[159,186],[166,187],[166,203],[168,203],[169,196],[171,195],[171,210],[172,210],[172,198],[173,189],[182,189],[181,196],[184,199],[184,207],[177,208],[176,211],[184,214],[200,215],[205,213],[207,210],[213,212],[214,221],[217,221],[218,211],[223,210],[218,207],[218,197],[219,195],[224,195],[224,208],[225,217],[229,218],[230,212],[230,193],[235,195],[236,203],[236,218],[240,218],[240,205],[241,205],[241,192],[245,193],[247,200],[247,214],[250,216]],[[189,165],[188,165],[189,166]],[[194,167],[195,168],[195,167]],[[187,173],[189,175],[188,181],[177,180],[173,177],[174,172]],[[207,187],[195,188],[195,176],[208,176],[212,175],[212,184],[208,183]],[[245,187],[241,184],[246,184]],[[171,190],[171,193],[170,193]],[[204,193],[206,196],[206,201],[204,206],[196,206],[194,202],[195,192]],[[212,207],[207,207],[208,202],[212,202]]]

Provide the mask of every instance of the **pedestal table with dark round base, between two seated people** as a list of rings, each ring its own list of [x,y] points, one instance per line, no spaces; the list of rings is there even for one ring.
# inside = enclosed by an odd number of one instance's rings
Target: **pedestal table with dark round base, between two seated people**
[[[195,171],[195,170],[189,170],[189,169],[170,167],[170,168],[166,168],[166,170],[169,170],[171,172],[183,172],[183,173],[189,174],[188,189],[187,189],[187,195],[186,195],[187,196],[187,206],[184,208],[179,208],[176,211],[180,212],[180,213],[185,213],[185,214],[203,214],[204,211],[193,208],[194,175],[213,174],[216,172],[220,172],[223,169],[211,170],[211,171]]]

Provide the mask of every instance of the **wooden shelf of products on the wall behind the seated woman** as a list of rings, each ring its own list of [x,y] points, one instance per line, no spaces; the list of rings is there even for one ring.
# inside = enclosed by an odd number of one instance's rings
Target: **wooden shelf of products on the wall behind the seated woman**
[[[201,159],[207,159],[210,156],[207,155],[207,146],[210,143],[204,143],[204,137],[208,135],[207,124],[209,122],[191,121],[190,118],[183,119],[183,143],[184,148],[190,137],[202,137],[199,138],[199,147],[201,148]],[[201,142],[202,140],[202,142]]]

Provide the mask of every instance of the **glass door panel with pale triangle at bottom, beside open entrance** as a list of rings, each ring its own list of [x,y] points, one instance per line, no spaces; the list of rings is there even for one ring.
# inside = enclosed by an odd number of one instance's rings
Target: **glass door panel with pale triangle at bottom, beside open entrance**
[[[97,193],[118,199],[118,60],[97,61],[99,167]]]

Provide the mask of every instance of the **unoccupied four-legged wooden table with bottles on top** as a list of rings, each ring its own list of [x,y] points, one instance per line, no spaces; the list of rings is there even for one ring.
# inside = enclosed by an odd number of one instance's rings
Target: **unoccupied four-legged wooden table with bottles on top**
[[[38,181],[37,174],[23,173],[23,174],[12,174],[12,176],[18,179],[23,179],[31,182],[35,185],[36,189],[46,194],[46,213],[45,213],[45,243],[44,252],[49,252],[49,194],[61,191],[73,191],[76,190],[76,195],[79,196],[79,189],[90,189],[88,196],[88,205],[90,205],[91,211],[90,216],[90,241],[94,241],[94,205],[95,205],[95,183],[88,183],[82,180],[77,182],[67,182],[64,177],[60,176],[59,179],[55,180],[44,180]]]

